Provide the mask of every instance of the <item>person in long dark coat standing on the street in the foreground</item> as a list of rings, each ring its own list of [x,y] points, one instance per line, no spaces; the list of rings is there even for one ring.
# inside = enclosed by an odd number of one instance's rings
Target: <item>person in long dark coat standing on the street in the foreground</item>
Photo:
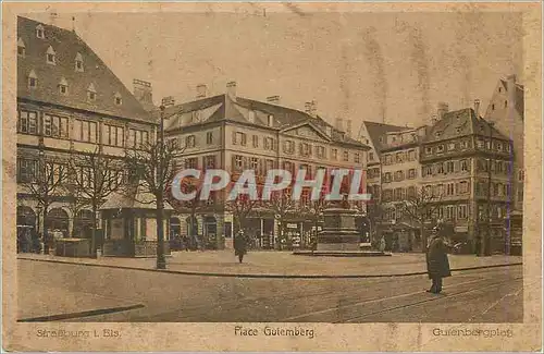
[[[426,249],[426,271],[429,273],[429,279],[433,281],[428,292],[440,294],[442,291],[442,278],[450,277],[452,272],[447,259],[446,244],[437,228],[433,229],[431,242]]]

